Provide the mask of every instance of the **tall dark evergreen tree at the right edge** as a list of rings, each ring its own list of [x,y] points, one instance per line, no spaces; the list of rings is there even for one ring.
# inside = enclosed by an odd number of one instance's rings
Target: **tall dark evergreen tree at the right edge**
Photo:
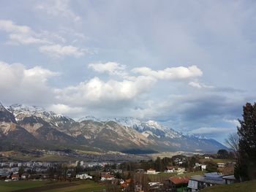
[[[239,120],[238,127],[238,164],[235,176],[239,180],[253,180],[256,178],[256,103],[246,103],[243,120]]]

